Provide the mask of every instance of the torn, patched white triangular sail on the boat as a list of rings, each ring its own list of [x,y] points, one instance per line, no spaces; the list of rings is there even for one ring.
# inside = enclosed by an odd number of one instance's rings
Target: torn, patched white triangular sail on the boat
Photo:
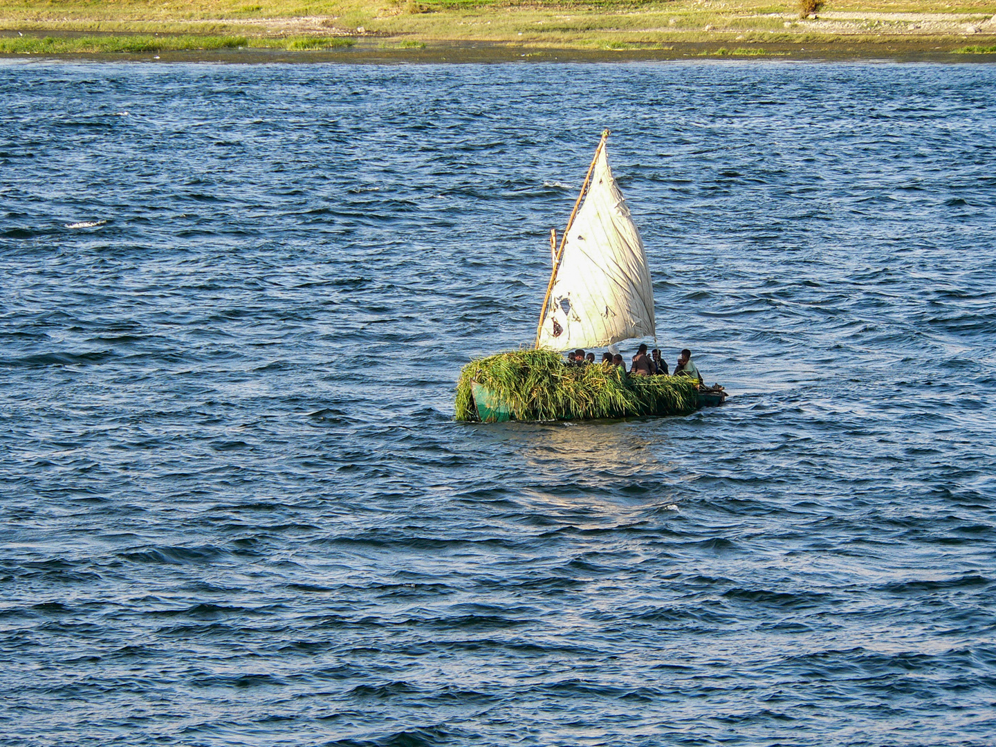
[[[605,348],[654,335],[646,252],[603,146],[585,202],[568,230],[539,347]]]

